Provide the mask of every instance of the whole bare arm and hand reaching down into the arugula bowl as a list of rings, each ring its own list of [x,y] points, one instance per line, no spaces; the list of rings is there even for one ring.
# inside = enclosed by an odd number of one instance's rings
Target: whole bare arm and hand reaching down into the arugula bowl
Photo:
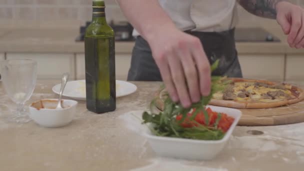
[[[200,40],[176,28],[158,0],[117,0],[129,22],[149,43],[172,100],[184,107],[208,95],[209,62]]]

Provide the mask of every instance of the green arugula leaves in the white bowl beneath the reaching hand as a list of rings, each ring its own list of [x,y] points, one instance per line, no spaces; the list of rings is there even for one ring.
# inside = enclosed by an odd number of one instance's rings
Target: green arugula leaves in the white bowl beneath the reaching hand
[[[211,71],[215,70],[218,66],[218,60],[211,65]],[[205,123],[208,125],[209,118],[205,111],[205,105],[211,100],[212,95],[215,92],[222,91],[228,81],[223,80],[221,76],[211,76],[211,90],[209,95],[201,96],[200,100],[193,103],[190,107],[184,108],[181,104],[175,103],[166,94],[164,100],[164,109],[162,112],[153,113],[153,107],[155,107],[155,99],[150,103],[150,113],[144,111],[142,114],[143,123],[152,123],[150,130],[157,136],[169,136],[169,137],[180,137],[190,139],[202,139],[202,140],[217,140],[224,136],[224,132],[217,129],[220,115],[217,117],[215,124],[212,127],[204,126],[197,123],[194,118],[199,111],[203,111]],[[162,85],[163,86],[163,85]],[[164,86],[163,86],[164,87]],[[187,113],[195,108],[191,117],[188,117],[189,121],[196,122],[197,126],[191,128],[182,127],[180,124],[187,117]],[[176,120],[176,116],[181,114],[182,118]]]

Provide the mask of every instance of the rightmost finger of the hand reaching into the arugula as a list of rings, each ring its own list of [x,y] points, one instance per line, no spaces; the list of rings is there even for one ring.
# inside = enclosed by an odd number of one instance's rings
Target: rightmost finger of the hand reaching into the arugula
[[[210,84],[211,84],[211,73],[209,61],[203,51],[200,40],[197,38],[196,41],[191,44],[191,53],[196,63],[196,68],[199,76],[199,89],[203,96],[209,95]]]

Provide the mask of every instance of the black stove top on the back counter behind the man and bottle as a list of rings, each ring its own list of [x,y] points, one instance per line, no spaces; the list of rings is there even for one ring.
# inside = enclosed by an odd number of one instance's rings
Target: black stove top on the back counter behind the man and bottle
[[[85,26],[81,26],[79,30],[79,35],[76,37],[75,41],[84,40],[85,28],[90,24],[89,21],[86,22]],[[115,32],[116,41],[134,41],[132,36],[133,27],[128,22],[118,22],[116,24],[110,21],[109,25],[113,28]],[[236,42],[279,42],[280,39],[260,27],[252,28],[235,28],[234,38]]]

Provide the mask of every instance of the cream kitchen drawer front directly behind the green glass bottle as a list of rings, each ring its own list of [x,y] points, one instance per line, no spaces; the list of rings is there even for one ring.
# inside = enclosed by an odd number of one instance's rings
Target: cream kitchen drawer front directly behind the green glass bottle
[[[127,72],[130,67],[131,55],[130,54],[115,54],[115,73],[116,79],[126,80]],[[76,78],[85,78],[85,63],[84,53],[76,54]]]

